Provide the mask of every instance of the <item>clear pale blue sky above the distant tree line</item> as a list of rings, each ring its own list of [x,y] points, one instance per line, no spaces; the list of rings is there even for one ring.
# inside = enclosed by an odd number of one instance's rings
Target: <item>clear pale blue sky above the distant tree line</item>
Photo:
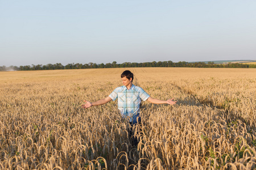
[[[0,66],[256,59],[255,9],[255,0],[0,0]]]

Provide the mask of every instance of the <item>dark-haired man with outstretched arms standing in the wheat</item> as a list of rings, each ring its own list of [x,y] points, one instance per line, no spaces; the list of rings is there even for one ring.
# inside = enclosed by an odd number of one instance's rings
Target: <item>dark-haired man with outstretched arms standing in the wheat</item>
[[[111,100],[114,101],[118,99],[118,109],[120,110],[122,116],[130,117],[130,124],[131,126],[134,126],[137,125],[137,123],[141,122],[141,117],[139,116],[139,105],[141,104],[141,100],[147,100],[150,103],[154,104],[170,105],[174,105],[177,102],[173,101],[174,98],[168,100],[153,99],[141,87],[134,86],[133,73],[131,73],[131,71],[129,70],[123,71],[123,73],[121,74],[121,78],[123,86],[115,88],[115,90],[105,99],[97,100],[93,103],[85,101],[85,104],[82,105],[82,107],[87,109],[92,106],[106,104]],[[134,139],[134,145],[137,145],[137,143],[137,139]]]

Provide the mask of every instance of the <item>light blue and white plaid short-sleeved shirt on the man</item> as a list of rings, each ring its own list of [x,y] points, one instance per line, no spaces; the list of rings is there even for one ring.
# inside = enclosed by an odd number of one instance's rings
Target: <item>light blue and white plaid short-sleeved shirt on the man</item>
[[[148,95],[141,87],[134,86],[133,84],[129,90],[127,90],[126,86],[115,88],[109,97],[113,101],[118,98],[118,109],[122,116],[130,116],[130,121],[132,121],[139,113],[141,100],[146,101],[150,95]]]

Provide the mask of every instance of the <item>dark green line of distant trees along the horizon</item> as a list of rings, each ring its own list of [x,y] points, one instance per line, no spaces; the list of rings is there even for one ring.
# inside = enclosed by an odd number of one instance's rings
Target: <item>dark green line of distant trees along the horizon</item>
[[[123,68],[123,67],[197,67],[197,68],[256,68],[256,65],[242,64],[242,63],[225,63],[215,64],[214,62],[172,62],[172,61],[153,61],[153,62],[124,62],[124,63],[68,63],[62,65],[61,63],[47,64],[47,65],[27,65],[27,66],[0,66],[0,71],[24,71],[24,70],[61,70],[61,69],[98,69],[98,68]]]

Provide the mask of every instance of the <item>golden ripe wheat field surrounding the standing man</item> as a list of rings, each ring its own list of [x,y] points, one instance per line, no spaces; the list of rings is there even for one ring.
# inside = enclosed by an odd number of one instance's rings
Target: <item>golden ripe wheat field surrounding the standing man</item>
[[[122,86],[151,97],[138,146],[117,101]],[[0,72],[0,169],[255,169],[256,69],[116,68]],[[139,130],[141,129],[141,130]]]

